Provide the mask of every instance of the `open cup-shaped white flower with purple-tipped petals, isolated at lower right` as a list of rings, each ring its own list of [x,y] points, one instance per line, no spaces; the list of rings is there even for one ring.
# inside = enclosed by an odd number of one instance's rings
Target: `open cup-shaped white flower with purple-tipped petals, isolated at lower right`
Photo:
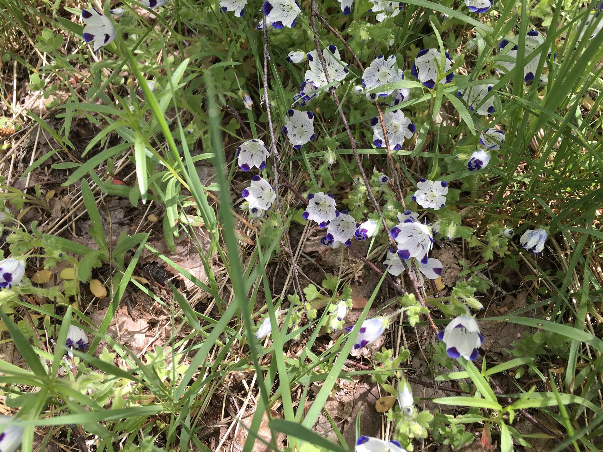
[[[446,354],[454,359],[464,357],[471,361],[478,359],[478,348],[484,343],[478,322],[472,316],[458,316],[438,333],[438,339],[446,344]]]

